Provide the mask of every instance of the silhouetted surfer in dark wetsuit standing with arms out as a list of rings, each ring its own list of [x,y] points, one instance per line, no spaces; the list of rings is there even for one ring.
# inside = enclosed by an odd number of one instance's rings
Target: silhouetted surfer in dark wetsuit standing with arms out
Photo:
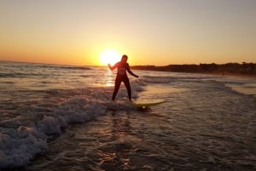
[[[128,60],[128,56],[126,54],[124,54],[122,56],[121,61],[116,63],[114,66],[110,66],[110,64],[108,64],[108,67],[109,67],[110,70],[114,70],[115,68],[118,68],[118,72],[117,72],[116,78],[115,78],[115,84],[114,84],[112,100],[115,99],[115,96],[116,96],[116,94],[119,91],[120,84],[122,82],[124,82],[125,83],[125,87],[127,89],[129,100],[131,101],[131,86],[130,86],[130,81],[129,81],[129,78],[128,78],[127,74],[126,74],[126,71],[128,71],[134,77],[138,77],[138,76],[135,75],[130,70],[130,66],[127,63],[127,60]]]

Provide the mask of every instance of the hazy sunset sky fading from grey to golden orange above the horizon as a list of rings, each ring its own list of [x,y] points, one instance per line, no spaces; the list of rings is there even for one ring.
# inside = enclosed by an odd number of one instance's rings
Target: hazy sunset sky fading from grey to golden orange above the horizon
[[[0,30],[0,60],[256,63],[256,0],[0,0]]]

